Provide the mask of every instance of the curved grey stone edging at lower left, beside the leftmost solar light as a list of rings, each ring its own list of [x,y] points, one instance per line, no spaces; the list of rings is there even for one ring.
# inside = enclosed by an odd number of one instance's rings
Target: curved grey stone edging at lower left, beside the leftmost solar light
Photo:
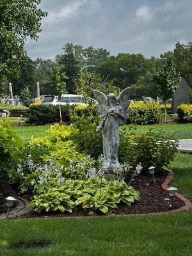
[[[19,202],[19,204],[15,208],[10,209],[9,219],[17,218],[22,214],[28,213],[29,211],[31,211],[31,207],[29,206],[28,200],[20,196],[14,196],[14,197],[17,198],[17,202]],[[3,219],[6,219],[6,213],[3,213],[0,215],[0,220],[3,220]]]

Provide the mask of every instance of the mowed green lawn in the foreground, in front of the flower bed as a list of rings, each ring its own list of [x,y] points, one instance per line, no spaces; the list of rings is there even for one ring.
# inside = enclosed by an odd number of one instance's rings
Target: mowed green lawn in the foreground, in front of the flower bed
[[[159,216],[1,221],[0,255],[191,255],[192,211]],[[48,243],[44,248],[29,248]]]

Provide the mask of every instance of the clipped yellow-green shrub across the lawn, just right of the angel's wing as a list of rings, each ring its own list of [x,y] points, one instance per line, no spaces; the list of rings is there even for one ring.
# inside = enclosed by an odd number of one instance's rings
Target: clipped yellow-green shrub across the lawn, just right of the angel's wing
[[[157,102],[138,101],[130,104],[129,121],[132,124],[156,124],[161,120],[161,109]]]

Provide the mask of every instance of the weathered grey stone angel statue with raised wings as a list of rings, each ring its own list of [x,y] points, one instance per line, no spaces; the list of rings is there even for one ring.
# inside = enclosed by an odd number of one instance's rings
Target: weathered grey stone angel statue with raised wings
[[[109,93],[108,96],[98,90],[93,90],[95,99],[99,103],[98,111],[100,113],[100,124],[96,131],[102,129],[102,143],[103,143],[103,156],[104,173],[113,175],[114,171],[120,168],[118,162],[118,145],[119,145],[119,130],[120,124],[128,118],[128,106],[130,103],[129,97],[131,87],[125,88],[116,97],[114,93]]]

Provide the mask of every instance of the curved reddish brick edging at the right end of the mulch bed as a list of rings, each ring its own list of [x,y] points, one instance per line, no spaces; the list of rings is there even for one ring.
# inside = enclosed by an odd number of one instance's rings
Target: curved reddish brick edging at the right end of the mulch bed
[[[168,175],[166,177],[166,179],[164,180],[164,182],[161,184],[161,187],[167,191],[168,189],[168,184],[172,181],[173,179],[173,171],[168,169],[168,168],[164,168],[164,170],[166,170],[166,172],[168,172]],[[170,210],[167,212],[183,212],[183,211],[187,211],[189,209],[192,208],[192,203],[188,198],[185,198],[184,196],[180,195],[179,193],[175,193],[175,196],[184,203],[184,206],[174,209],[174,210]]]

